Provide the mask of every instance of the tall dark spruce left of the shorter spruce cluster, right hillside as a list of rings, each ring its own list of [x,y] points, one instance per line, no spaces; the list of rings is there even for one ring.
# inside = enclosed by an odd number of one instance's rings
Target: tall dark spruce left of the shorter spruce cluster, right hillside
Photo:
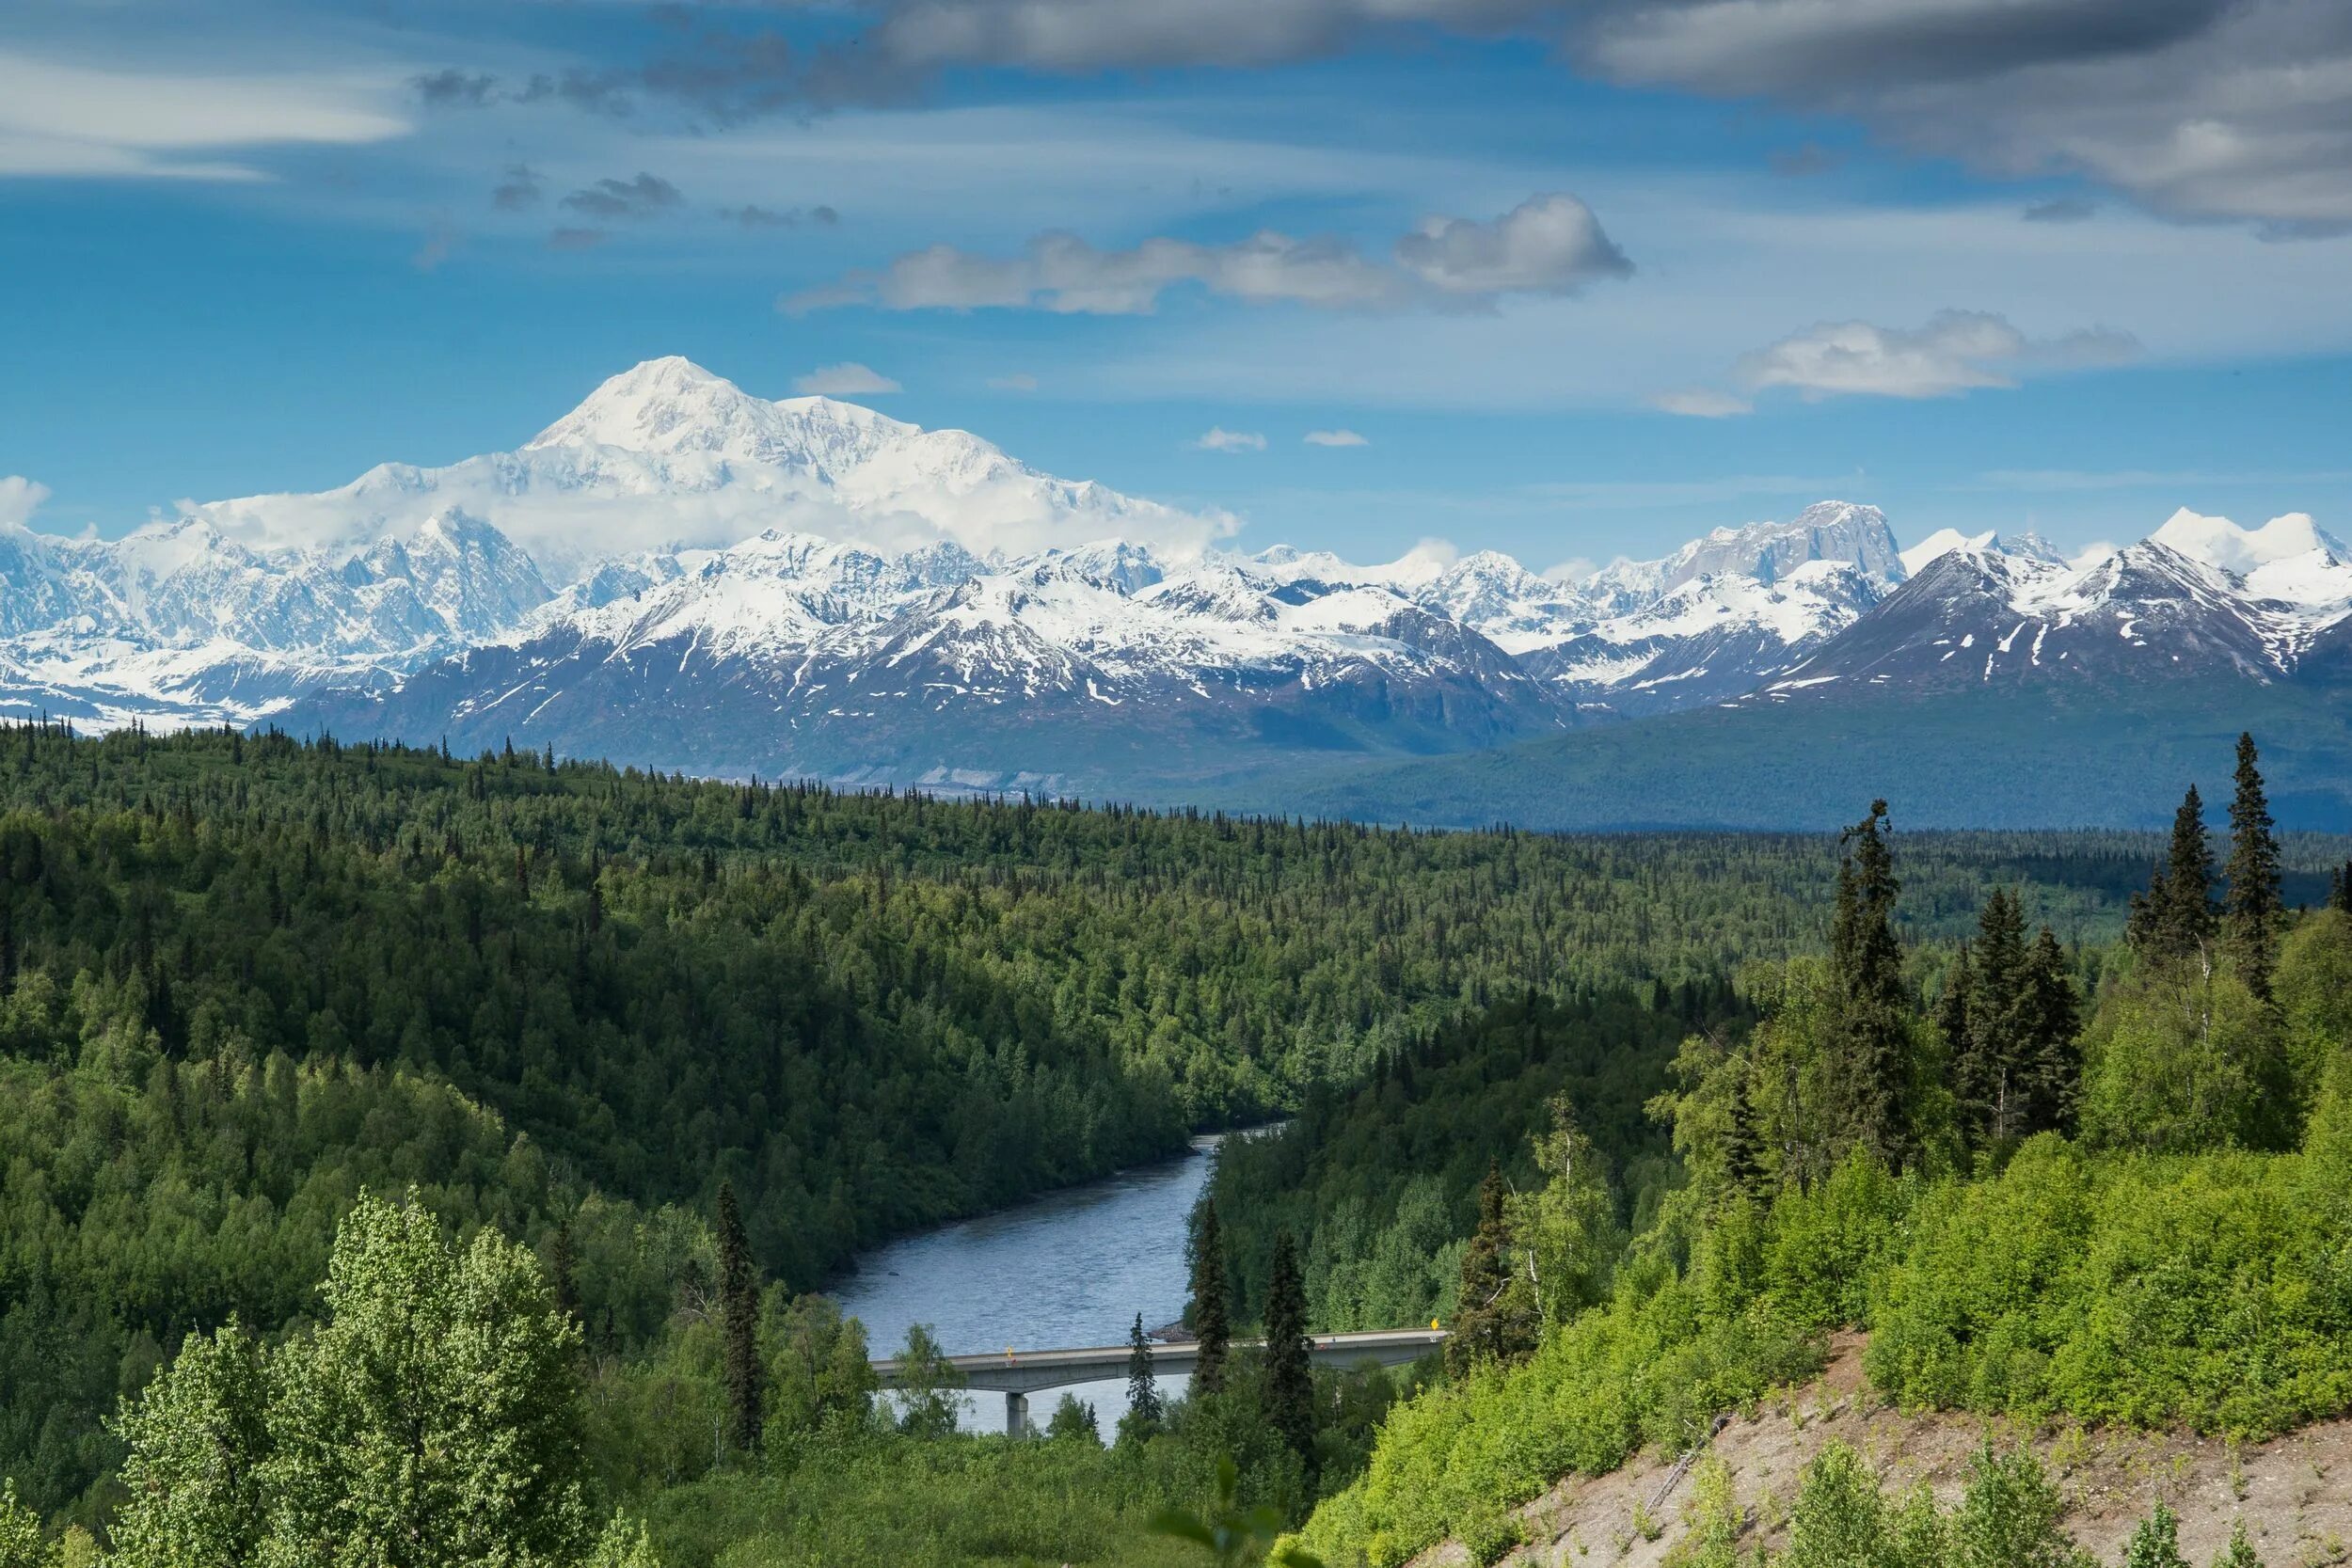
[[[1886,844],[1886,802],[1870,802],[1870,816],[1849,827],[1842,844],[1830,929],[1842,1100],[1853,1143],[1898,1168],[1912,1147],[1910,999],[1893,922],[1903,884]]]

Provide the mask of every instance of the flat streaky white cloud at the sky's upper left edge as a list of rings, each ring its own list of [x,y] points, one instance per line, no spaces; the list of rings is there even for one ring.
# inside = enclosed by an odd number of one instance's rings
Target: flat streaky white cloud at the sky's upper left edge
[[[228,148],[360,146],[409,134],[393,73],[92,71],[0,52],[0,174],[254,181]]]

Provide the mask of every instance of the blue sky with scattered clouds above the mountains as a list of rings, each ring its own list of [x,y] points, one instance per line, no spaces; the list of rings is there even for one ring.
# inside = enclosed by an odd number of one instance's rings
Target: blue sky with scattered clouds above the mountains
[[[1251,548],[1541,569],[1820,496],[2345,534],[2347,16],[26,0],[0,475],[120,534],[506,449],[682,353],[866,367]]]

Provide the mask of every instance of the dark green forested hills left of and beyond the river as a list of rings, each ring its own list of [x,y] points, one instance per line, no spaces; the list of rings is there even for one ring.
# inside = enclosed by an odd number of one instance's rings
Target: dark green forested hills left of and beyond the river
[[[1905,835],[1907,973],[1929,985],[2006,886],[2089,983],[2157,846]],[[2340,851],[2291,842],[2288,896],[2321,896]],[[1588,1168],[1581,1140],[1609,1171],[1576,1208],[1595,1234],[1672,1208],[1689,1152],[1639,1107],[1693,1027],[1778,1006],[1733,976],[1832,938],[1837,863],[1806,835],[1414,835],[0,731],[0,1476],[103,1537],[120,1401],[191,1333],[299,1338],[362,1190],[539,1258],[579,1324],[586,1462],[619,1497],[757,1450],[722,1427],[722,1300],[757,1295],[767,1450],[800,1453],[866,1410],[863,1338],[809,1295],[858,1248],[1197,1128],[1310,1133],[1221,1180],[1279,1190],[1232,1208],[1244,1321],[1279,1295],[1284,1227],[1305,1319],[1451,1314],[1489,1164],[1555,1237],[1569,1211],[1541,1199]],[[1272,1448],[1242,1394],[1171,1413],[1190,1436],[1120,1472],[1117,1516],[1204,1495],[1216,1450],[1305,1507],[1364,1465],[1383,1389],[1334,1392]],[[840,1507],[946,1462],[856,1453],[823,1479]],[[969,1486],[1004,1483],[974,1465]],[[760,1507],[814,1507],[811,1476]],[[1073,1486],[1112,1495],[1098,1481]],[[708,1497],[652,1512],[724,1544]]]

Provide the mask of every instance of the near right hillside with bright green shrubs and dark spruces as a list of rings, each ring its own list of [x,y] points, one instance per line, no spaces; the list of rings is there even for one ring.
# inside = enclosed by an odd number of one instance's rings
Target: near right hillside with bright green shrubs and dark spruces
[[[1454,1378],[1317,1507],[1303,1537],[1327,1561],[1402,1563],[1442,1537],[1501,1556],[1526,1540],[1515,1505],[1639,1448],[1698,1455],[1835,1331],[1867,1335],[1870,1385],[1900,1408],[2232,1441],[2352,1410],[2352,865],[2326,907],[2288,907],[2249,738],[2227,837],[2190,790],[2107,947],[2070,952],[2006,889],[1969,940],[1910,943],[1905,851],[1884,806],[1851,827],[1825,952],[1750,966],[1743,1006],[1686,1034],[1651,1100],[1677,1157],[1663,1187],[1623,1091],[1571,1072],[1534,1128],[1522,1110],[1468,1135],[1498,1161],[1472,1208],[1465,1161],[1416,1135],[1477,1081],[1465,1067],[1428,1100],[1364,1088],[1301,1119],[1303,1147],[1268,1140],[1221,1173],[1240,1239],[1296,1225],[1301,1182],[1322,1222],[1348,1204],[1395,1227],[1416,1201],[1458,1218],[1430,1229],[1451,1246]],[[1510,1039],[1496,1016],[1465,1060],[1526,1074]],[[1392,1152],[1423,1161],[1421,1199]],[[2084,1561],[2032,1455],[1987,1448],[1971,1474],[1947,1519],[1825,1453],[1792,1516],[1703,1497],[1693,1561],[1757,1561],[1750,1526],[1790,1530],[1790,1563]],[[2006,1556],[1983,1556],[1994,1514],[2030,1523]]]

